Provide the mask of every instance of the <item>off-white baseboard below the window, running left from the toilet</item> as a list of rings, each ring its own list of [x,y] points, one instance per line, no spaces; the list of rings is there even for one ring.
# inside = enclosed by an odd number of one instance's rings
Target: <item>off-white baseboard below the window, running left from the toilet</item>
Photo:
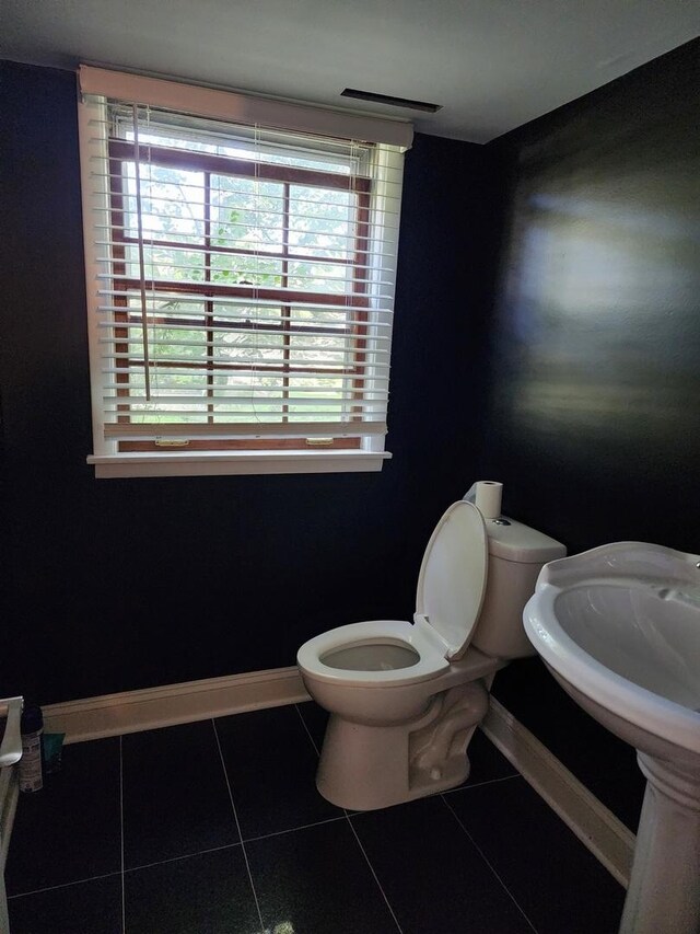
[[[292,666],[50,704],[44,723],[66,742],[82,742],[308,700]]]

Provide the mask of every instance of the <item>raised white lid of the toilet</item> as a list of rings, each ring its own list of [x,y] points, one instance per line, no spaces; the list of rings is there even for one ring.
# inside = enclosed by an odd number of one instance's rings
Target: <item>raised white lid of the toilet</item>
[[[446,658],[460,658],[476,629],[489,561],[483,518],[460,499],[432,533],[418,576],[416,613],[447,644]]]

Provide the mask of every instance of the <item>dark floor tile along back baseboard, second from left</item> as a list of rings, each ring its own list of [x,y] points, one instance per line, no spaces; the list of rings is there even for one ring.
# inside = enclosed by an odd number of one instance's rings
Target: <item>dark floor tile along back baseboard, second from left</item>
[[[237,843],[211,720],[122,738],[127,868]]]

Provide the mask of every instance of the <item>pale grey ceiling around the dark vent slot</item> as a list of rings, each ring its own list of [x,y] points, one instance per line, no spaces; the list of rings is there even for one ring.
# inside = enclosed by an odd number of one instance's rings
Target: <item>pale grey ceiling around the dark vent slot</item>
[[[700,33],[696,0],[0,0],[0,57],[348,106],[486,142]]]

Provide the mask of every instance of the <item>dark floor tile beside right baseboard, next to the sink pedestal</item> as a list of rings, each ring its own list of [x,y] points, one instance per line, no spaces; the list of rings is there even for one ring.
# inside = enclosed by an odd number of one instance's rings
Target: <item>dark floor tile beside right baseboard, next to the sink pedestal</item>
[[[617,932],[625,889],[524,779],[444,800],[539,934]]]

